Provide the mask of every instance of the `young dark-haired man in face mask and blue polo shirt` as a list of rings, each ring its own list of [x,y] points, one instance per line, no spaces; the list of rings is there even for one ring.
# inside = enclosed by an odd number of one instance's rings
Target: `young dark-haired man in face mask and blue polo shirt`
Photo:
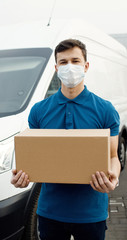
[[[75,240],[104,240],[107,193],[115,189],[120,174],[117,157],[119,115],[110,102],[84,86],[89,63],[83,43],[74,39],[62,41],[55,49],[55,58],[61,88],[33,106],[29,126],[46,129],[110,128],[111,171],[109,179],[103,172],[93,173],[89,185],[43,183],[37,208],[40,237],[42,240],[69,240],[72,234]],[[11,182],[16,187],[26,187],[29,179],[25,173],[13,170]]]

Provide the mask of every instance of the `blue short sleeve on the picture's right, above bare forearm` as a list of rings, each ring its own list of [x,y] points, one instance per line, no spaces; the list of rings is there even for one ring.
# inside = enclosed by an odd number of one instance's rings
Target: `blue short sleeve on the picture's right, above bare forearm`
[[[105,116],[105,128],[110,128],[110,135],[119,135],[120,117],[114,106],[109,103]]]

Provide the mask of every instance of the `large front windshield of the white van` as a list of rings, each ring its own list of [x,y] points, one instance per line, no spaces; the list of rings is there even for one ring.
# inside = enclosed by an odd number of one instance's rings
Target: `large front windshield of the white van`
[[[0,117],[27,107],[51,53],[49,48],[0,51]]]

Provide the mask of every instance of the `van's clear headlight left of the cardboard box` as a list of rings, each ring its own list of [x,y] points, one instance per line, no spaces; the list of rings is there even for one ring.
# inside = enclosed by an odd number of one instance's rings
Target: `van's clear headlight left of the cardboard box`
[[[14,138],[11,141],[0,143],[0,173],[9,171],[12,168],[14,157]]]

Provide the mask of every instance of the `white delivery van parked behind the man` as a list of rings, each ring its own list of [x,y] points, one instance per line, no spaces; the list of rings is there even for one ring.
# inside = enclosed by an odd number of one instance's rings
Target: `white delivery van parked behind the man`
[[[54,48],[67,38],[86,44],[90,68],[85,84],[111,101],[120,114],[118,153],[122,169],[127,143],[127,50],[83,20],[1,27],[0,35],[0,239],[34,240],[39,239],[36,207],[41,184],[30,183],[25,189],[11,185],[14,136],[28,127],[34,103],[60,87]]]

